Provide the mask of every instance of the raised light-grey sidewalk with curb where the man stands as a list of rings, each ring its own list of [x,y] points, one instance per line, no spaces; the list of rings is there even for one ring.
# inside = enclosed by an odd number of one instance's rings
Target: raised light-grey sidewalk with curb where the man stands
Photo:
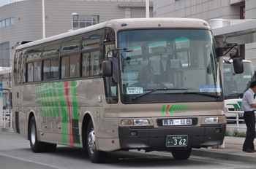
[[[13,129],[0,127],[0,132],[13,133]],[[210,147],[208,149],[192,149],[192,155],[256,163],[256,152],[248,153],[242,151],[244,139],[240,137],[225,137],[222,146]]]

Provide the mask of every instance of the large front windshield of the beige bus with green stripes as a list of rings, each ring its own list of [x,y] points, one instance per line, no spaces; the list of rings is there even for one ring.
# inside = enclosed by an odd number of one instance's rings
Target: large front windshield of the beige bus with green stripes
[[[211,32],[198,29],[121,31],[123,103],[220,101],[219,63]],[[197,99],[195,99],[195,97]]]

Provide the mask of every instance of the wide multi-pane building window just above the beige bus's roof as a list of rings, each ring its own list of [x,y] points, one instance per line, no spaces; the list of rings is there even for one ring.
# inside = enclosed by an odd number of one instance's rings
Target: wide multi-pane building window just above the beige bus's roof
[[[74,15],[73,28],[85,28],[90,25],[99,23],[99,16],[97,15]]]

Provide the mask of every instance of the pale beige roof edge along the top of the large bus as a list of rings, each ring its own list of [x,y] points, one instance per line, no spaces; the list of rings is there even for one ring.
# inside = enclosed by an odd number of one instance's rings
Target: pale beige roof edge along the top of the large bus
[[[23,49],[24,47],[32,47],[37,44],[53,42],[58,39],[69,38],[84,34],[86,32],[97,31],[101,28],[113,28],[114,31],[129,28],[203,28],[210,30],[210,25],[205,20],[194,18],[178,18],[178,17],[151,17],[151,18],[127,18],[109,20],[97,25],[91,25],[86,28],[80,28],[75,31],[69,31],[63,34],[50,36],[45,39],[39,39],[34,42],[29,42],[16,47],[15,50]]]

